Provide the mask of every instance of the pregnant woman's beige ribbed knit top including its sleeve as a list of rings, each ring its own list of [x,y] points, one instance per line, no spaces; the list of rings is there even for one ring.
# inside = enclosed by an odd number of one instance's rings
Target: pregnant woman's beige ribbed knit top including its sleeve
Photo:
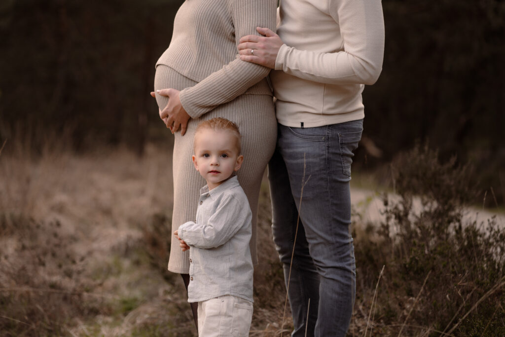
[[[270,69],[241,61],[238,40],[257,26],[275,29],[275,0],[187,0],[174,20],[164,64],[198,82],[182,90],[186,112],[197,118],[247,92],[270,94]]]

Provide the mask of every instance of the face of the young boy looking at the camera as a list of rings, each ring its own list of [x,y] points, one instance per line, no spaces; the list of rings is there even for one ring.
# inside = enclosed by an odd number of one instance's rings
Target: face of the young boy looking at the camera
[[[242,165],[237,139],[227,130],[199,130],[194,138],[193,164],[207,180],[209,189],[219,186]]]

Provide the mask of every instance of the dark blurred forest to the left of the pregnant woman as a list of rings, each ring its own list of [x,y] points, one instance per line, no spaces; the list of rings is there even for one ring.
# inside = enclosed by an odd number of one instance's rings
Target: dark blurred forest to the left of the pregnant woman
[[[5,3],[7,4],[7,3]],[[143,151],[157,58],[181,1],[16,0],[0,7],[0,137],[33,146],[70,129],[73,146]]]

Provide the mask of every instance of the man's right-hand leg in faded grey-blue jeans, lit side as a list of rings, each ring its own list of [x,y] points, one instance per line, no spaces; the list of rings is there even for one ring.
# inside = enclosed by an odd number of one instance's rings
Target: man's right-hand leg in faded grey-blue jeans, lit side
[[[315,128],[281,126],[278,135],[292,195],[295,201],[301,197],[299,214],[320,275],[315,328],[320,337],[344,336],[354,306],[349,180],[352,151],[358,146],[362,125],[360,120]]]

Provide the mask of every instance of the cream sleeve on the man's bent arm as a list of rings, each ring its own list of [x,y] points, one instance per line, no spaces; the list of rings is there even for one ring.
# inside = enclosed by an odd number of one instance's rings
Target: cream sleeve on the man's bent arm
[[[338,22],[343,51],[317,53],[283,44],[275,69],[314,82],[373,84],[384,56],[384,18],[380,0],[327,0]]]

